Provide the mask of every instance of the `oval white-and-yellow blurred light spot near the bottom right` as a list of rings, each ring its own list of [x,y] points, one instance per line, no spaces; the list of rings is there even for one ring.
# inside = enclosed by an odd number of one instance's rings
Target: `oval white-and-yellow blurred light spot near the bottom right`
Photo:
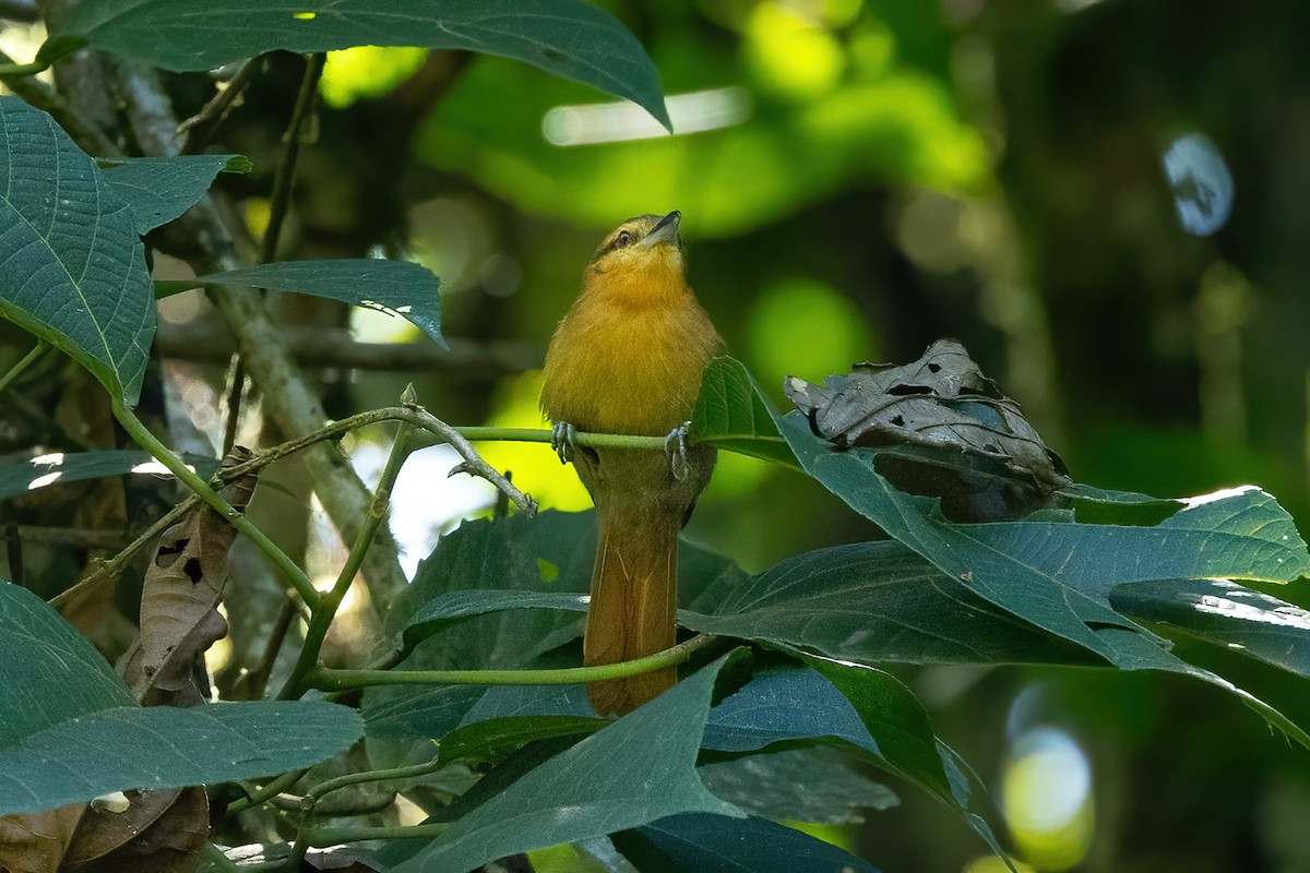
[[[1010,746],[1001,806],[1020,855],[1039,870],[1068,870],[1091,848],[1091,766],[1074,739],[1049,725]]]

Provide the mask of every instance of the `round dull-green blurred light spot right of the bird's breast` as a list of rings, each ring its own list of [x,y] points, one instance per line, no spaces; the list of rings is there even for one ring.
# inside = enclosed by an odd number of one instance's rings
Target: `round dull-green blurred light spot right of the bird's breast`
[[[782,279],[764,289],[747,321],[751,370],[777,395],[787,376],[821,382],[862,360],[878,360],[879,343],[863,313],[815,279]]]

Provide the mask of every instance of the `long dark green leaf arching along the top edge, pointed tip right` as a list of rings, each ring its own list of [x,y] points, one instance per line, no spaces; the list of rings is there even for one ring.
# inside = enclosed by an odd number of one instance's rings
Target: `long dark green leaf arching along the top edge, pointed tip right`
[[[51,34],[173,71],[274,48],[462,48],[595,85],[669,127],[655,64],[624,25],[583,0],[83,0]]]

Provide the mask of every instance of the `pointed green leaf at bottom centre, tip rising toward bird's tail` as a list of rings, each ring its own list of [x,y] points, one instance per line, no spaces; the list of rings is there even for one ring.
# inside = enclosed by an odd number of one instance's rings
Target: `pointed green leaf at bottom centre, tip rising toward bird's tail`
[[[696,775],[714,681],[731,657],[528,772],[397,866],[397,873],[468,870],[506,855],[679,813],[741,815],[710,794]]]

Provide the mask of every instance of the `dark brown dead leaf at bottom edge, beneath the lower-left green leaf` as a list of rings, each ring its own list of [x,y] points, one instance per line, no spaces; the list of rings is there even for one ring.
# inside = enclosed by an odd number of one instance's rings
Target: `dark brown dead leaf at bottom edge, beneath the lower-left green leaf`
[[[185,873],[210,835],[203,788],[127,792],[122,813],[89,808],[68,846],[68,873]]]

